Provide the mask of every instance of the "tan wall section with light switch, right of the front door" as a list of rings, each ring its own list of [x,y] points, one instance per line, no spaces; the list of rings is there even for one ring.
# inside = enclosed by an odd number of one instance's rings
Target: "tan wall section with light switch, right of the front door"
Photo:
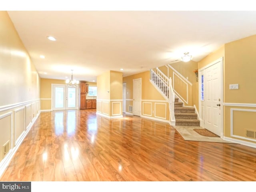
[[[255,50],[256,35],[225,44],[224,101],[226,103],[256,105]],[[230,90],[229,84],[239,84],[239,89]],[[256,112],[251,110],[256,110],[256,107],[224,106],[225,136],[230,137],[231,109],[234,109],[232,118],[235,135],[246,137],[246,129],[255,130]],[[255,140],[250,142],[256,143]]]

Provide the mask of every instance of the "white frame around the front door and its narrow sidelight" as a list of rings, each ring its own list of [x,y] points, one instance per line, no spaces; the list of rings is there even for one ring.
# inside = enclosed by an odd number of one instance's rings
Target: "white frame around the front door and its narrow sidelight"
[[[223,103],[224,103],[224,96],[223,96],[223,57],[215,60],[214,62],[198,69],[198,107],[199,107],[199,120],[200,120],[200,126],[204,128],[204,101],[201,100],[201,86],[202,86],[202,74],[204,74],[204,70],[216,63],[220,62],[220,138],[223,139]],[[205,74],[204,74],[205,75]],[[205,91],[205,90],[204,90]],[[206,94],[204,93],[204,96]]]

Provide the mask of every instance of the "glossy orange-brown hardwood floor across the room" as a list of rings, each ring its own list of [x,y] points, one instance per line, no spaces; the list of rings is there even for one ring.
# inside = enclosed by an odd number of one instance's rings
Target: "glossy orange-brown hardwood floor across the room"
[[[1,181],[255,181],[256,149],[184,141],[169,124],[42,112]]]

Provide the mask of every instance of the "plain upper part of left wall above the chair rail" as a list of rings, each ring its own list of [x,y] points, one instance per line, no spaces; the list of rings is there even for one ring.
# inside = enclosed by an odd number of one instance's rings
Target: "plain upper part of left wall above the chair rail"
[[[40,77],[6,11],[0,11],[0,69],[0,106],[40,97]]]

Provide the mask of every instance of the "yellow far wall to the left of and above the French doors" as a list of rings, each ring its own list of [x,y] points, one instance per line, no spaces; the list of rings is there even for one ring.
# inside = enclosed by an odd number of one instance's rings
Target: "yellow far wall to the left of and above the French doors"
[[[41,110],[52,108],[52,84],[66,84],[66,82],[58,79],[41,79]]]

